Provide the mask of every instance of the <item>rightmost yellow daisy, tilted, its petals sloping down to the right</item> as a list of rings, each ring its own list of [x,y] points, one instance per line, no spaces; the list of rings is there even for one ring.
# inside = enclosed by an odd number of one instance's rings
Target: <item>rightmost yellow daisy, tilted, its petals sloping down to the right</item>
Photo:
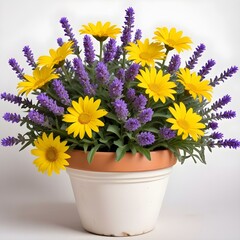
[[[178,81],[184,85],[194,99],[198,97],[199,101],[202,102],[202,98],[205,97],[209,102],[211,101],[213,88],[209,85],[209,80],[201,80],[201,76],[195,72],[191,74],[188,68],[181,68],[177,76]]]

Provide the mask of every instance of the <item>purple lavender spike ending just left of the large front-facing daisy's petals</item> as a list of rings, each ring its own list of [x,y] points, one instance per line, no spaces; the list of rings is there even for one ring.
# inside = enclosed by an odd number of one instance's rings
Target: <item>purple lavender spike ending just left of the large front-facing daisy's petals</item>
[[[40,93],[37,96],[37,100],[39,101],[39,103],[42,107],[47,108],[54,115],[57,115],[57,116],[63,115],[64,108],[59,107],[57,105],[57,102],[55,100],[53,100],[52,98],[48,97],[45,93]]]

